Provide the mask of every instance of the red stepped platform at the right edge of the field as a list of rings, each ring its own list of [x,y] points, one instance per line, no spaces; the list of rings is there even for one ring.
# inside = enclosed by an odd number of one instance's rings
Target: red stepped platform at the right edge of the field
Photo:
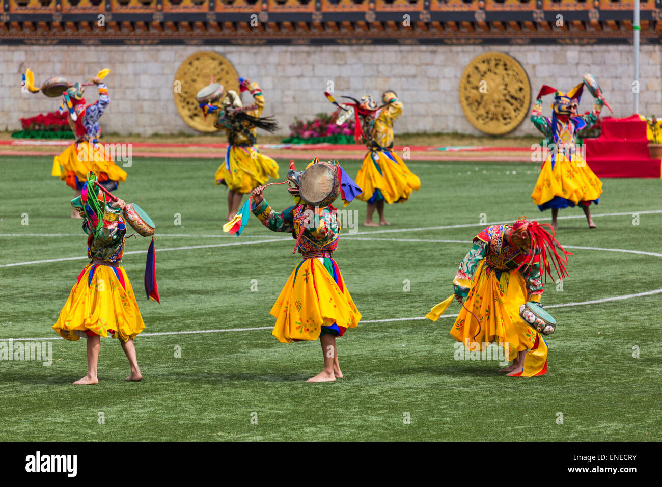
[[[585,138],[586,160],[598,178],[661,178],[662,160],[651,159],[646,123],[638,115],[602,119],[598,138]]]

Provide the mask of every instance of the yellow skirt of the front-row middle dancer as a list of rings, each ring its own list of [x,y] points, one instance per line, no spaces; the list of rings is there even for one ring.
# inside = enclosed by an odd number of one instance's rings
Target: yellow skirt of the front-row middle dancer
[[[271,315],[276,318],[271,334],[281,343],[316,340],[320,333],[342,336],[361,319],[332,258],[303,260],[287,280]]]

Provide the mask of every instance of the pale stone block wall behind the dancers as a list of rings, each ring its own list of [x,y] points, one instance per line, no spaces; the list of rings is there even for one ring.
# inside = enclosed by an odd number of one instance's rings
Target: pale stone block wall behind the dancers
[[[59,99],[21,93],[21,73],[35,72],[41,83],[56,74],[71,80],[93,76],[101,68],[111,105],[101,120],[106,132],[193,133],[173,102],[173,78],[179,64],[198,50],[226,56],[240,74],[258,81],[265,94],[265,115],[275,114],[287,134],[295,115],[332,111],[323,91],[334,81],[335,93],[379,97],[397,91],[404,113],[396,133],[460,132],[479,134],[465,119],[457,95],[459,77],[477,54],[498,50],[524,66],[532,102],[545,83],[568,91],[590,72],[600,82],[614,116],[632,115],[632,46],[0,46],[0,130],[20,129],[21,117],[53,111]],[[642,46],[639,113],[662,115],[662,46]],[[245,94],[244,97],[247,95]],[[250,96],[250,95],[248,95]],[[96,99],[95,93],[88,98]],[[246,100],[246,98],[244,98]],[[550,99],[551,103],[551,99]],[[547,104],[545,103],[545,110]],[[581,110],[589,109],[585,93]],[[527,119],[513,134],[535,133]]]

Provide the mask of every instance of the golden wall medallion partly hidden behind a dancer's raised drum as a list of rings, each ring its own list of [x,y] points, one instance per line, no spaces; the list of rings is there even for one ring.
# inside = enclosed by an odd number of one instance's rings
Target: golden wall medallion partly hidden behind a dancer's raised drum
[[[234,89],[239,93],[237,71],[224,56],[216,52],[201,51],[191,54],[177,69],[173,83],[175,106],[181,118],[189,127],[200,132],[216,132],[214,117],[205,115],[195,100],[198,91],[209,85],[212,76],[214,83],[220,83],[227,92]]]

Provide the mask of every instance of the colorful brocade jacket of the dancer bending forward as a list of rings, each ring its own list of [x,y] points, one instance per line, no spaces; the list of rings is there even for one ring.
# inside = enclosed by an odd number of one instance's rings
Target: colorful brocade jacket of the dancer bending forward
[[[456,296],[465,298],[469,294],[473,274],[483,261],[489,267],[488,272],[508,272],[520,266],[525,254],[520,248],[505,241],[506,228],[510,228],[510,225],[492,225],[473,239],[473,247],[459,264],[459,270],[453,279]],[[543,286],[539,264],[522,266],[519,272],[526,284],[527,301],[540,303]]]

